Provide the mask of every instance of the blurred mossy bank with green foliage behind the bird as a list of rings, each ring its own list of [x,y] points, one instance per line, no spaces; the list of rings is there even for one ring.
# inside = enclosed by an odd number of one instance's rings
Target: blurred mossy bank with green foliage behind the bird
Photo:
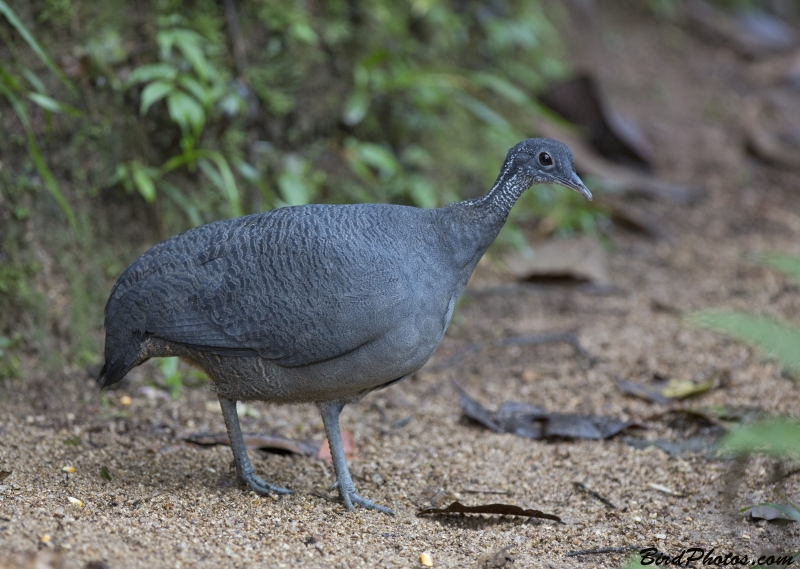
[[[156,241],[310,202],[437,207],[494,181],[568,67],[537,0],[0,0],[0,376],[100,357]],[[514,218],[595,226],[566,192]],[[577,207],[576,207],[577,205]],[[514,225],[505,242],[520,242]],[[66,360],[64,357],[66,356]]]

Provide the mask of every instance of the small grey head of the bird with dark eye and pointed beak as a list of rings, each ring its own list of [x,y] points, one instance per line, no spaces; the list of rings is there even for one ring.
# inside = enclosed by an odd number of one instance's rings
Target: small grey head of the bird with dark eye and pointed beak
[[[508,174],[521,175],[530,184],[558,184],[592,199],[592,193],[575,173],[572,151],[550,138],[529,138],[508,151]]]

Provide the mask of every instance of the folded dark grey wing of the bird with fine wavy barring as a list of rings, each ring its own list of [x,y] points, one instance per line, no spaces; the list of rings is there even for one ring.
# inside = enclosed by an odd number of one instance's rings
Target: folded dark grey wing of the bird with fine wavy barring
[[[407,291],[396,256],[376,242],[385,232],[250,217],[258,223],[204,226],[148,251],[115,285],[107,323],[124,306],[134,331],[285,366],[344,355],[391,328]]]

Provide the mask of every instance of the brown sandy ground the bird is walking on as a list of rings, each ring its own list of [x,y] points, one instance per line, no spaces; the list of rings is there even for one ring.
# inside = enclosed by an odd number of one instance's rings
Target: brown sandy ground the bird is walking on
[[[157,373],[153,366],[131,374],[126,389],[105,394],[85,370],[45,377],[33,369],[24,382],[0,385],[0,470],[12,472],[0,482],[0,567],[23,567],[37,551],[40,561],[52,553],[54,566],[87,568],[417,567],[423,552],[436,567],[499,567],[482,556],[506,547],[514,567],[619,567],[622,553],[565,555],[628,545],[672,554],[688,547],[749,556],[795,551],[796,524],[753,523],[738,511],[777,500],[778,490],[800,497],[800,476],[772,483],[766,459],[751,459],[738,485],[726,486],[727,463],[703,454],[672,458],[654,447],[637,450],[622,436],[535,442],[493,434],[461,416],[452,380],[493,409],[516,400],[633,419],[646,429],[629,434],[648,439],[680,440],[693,427],[672,415],[658,418],[665,407],[620,394],[615,378],[721,376],[724,385],[678,406],[794,415],[800,408],[800,386],[775,364],[681,318],[733,306],[800,322],[797,287],[746,258],[751,251],[800,254],[800,175],[745,155],[737,121],[747,95],[741,61],[673,26],[623,12],[604,15],[594,33],[573,30],[573,37],[576,61],[593,69],[611,100],[642,125],[659,174],[705,187],[709,196],[693,206],[641,202],[672,239],[615,231],[614,288],[604,294],[496,287],[502,275],[480,269],[471,290],[483,293],[460,303],[430,364],[343,413],[355,441],[350,465],[359,491],[395,508],[395,517],[348,513],[315,495],[333,471],[306,456],[251,451],[258,474],[296,494],[278,499],[246,491],[228,447],[182,440],[224,431],[213,394],[200,388],[185,389],[178,401],[148,396],[141,387]],[[598,356],[594,365],[566,345],[487,347],[435,372],[472,342],[573,327]],[[252,408],[243,418],[246,432],[324,438],[311,406]],[[68,466],[74,472],[63,470]],[[111,480],[101,478],[103,467]],[[576,491],[574,482],[616,508]],[[445,505],[456,498],[537,508],[565,524],[416,515],[432,499]]]

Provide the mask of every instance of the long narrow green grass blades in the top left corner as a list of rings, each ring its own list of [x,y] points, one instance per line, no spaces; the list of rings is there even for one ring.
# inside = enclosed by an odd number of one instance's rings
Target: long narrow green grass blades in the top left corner
[[[53,63],[47,53],[41,48],[33,35],[31,35],[28,29],[17,17],[16,13],[14,13],[14,11],[5,2],[5,0],[0,0],[0,13],[5,16],[8,23],[11,24],[11,26],[17,31],[17,33],[19,33],[23,40],[25,40],[25,43],[28,44],[30,49],[38,56],[41,62],[44,63],[47,68],[50,69],[50,71],[52,71],[53,74],[55,74],[56,77],[61,80],[63,85],[71,94],[75,95],[77,93],[75,88],[58,69],[58,67],[56,67],[55,63]],[[12,49],[13,53],[12,42],[7,37],[4,37],[3,39],[6,46],[8,46],[9,49]],[[0,64],[0,94],[2,94],[9,102],[11,107],[14,109],[14,113],[17,115],[17,118],[25,129],[28,155],[30,156],[31,161],[34,163],[36,170],[39,172],[45,187],[47,187],[47,190],[53,196],[53,199],[58,202],[58,205],[64,212],[64,215],[72,226],[72,229],[75,231],[75,234],[79,235],[80,228],[78,226],[78,220],[75,217],[75,213],[73,212],[72,207],[67,199],[64,197],[64,194],[61,192],[61,188],[59,187],[55,176],[53,176],[53,173],[50,171],[47,162],[42,156],[42,151],[39,148],[39,143],[36,140],[36,134],[34,133],[33,126],[31,125],[25,99],[44,109],[47,115],[48,124],[50,123],[50,113],[66,113],[72,116],[78,116],[80,115],[80,111],[50,97],[47,94],[44,83],[42,83],[42,81],[30,69],[22,67],[21,74],[25,78],[28,84],[27,86],[18,77],[15,77],[9,68],[5,67],[3,64]]]

